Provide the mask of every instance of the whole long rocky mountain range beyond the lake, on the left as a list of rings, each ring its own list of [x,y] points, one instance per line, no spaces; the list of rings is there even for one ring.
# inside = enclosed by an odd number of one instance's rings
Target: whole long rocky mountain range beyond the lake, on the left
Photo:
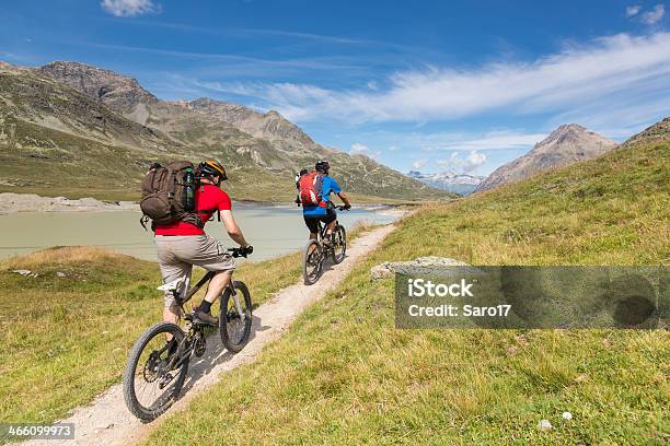
[[[370,200],[448,197],[366,156],[324,148],[273,110],[165,102],[135,79],[78,62],[3,63],[0,85],[0,190],[136,198],[150,161],[211,157],[228,166],[235,198],[284,201],[297,171],[328,159],[343,187]],[[100,193],[84,187],[101,175],[108,180]]]

